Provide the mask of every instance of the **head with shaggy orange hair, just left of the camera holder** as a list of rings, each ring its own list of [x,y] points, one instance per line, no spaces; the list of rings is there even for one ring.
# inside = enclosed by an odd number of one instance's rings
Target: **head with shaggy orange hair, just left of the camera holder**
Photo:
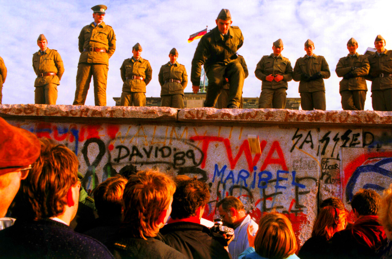
[[[171,213],[176,184],[152,169],[139,171],[125,185],[123,231],[133,237],[155,237]]]

